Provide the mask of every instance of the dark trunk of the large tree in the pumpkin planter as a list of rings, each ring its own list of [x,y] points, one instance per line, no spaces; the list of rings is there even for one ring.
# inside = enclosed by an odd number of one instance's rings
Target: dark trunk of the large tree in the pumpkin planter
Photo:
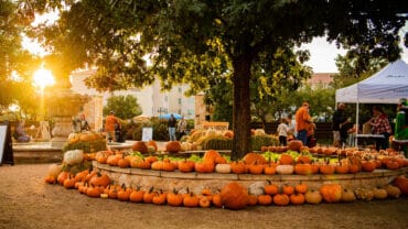
[[[250,143],[250,56],[241,56],[233,61],[234,67],[234,108],[233,130],[234,142],[230,159],[240,160],[251,151]]]

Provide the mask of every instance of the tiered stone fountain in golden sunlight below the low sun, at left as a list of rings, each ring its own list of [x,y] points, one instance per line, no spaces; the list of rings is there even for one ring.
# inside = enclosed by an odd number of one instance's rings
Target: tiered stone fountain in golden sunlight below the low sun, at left
[[[49,116],[54,121],[52,129],[51,145],[62,148],[73,132],[72,120],[80,110],[84,103],[89,101],[89,96],[74,94],[71,90],[68,78],[57,81],[51,90],[45,91],[45,106]]]

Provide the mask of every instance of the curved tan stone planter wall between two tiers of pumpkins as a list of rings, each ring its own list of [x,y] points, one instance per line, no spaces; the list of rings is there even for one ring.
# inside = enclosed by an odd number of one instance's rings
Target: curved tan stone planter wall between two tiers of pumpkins
[[[372,173],[361,172],[356,174],[333,174],[333,175],[253,175],[253,174],[219,174],[219,173],[181,173],[164,172],[140,168],[120,168],[107,164],[93,162],[94,170],[107,174],[115,184],[131,187],[154,187],[157,189],[173,190],[189,189],[200,193],[203,188],[211,188],[213,192],[221,189],[225,184],[238,182],[241,185],[254,189],[264,188],[269,182],[277,185],[307,184],[309,188],[319,188],[322,184],[336,183],[342,187],[355,189],[357,187],[377,187],[388,184],[396,176],[408,173],[408,167],[396,171],[375,170]]]

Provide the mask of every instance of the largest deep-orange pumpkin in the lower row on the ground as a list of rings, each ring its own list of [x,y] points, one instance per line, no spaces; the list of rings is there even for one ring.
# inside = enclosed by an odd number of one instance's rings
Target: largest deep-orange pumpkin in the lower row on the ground
[[[228,209],[238,210],[247,207],[247,188],[236,182],[225,185],[219,195],[222,204]]]

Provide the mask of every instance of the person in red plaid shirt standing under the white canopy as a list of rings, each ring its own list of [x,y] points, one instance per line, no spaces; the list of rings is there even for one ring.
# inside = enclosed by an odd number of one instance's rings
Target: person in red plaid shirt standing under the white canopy
[[[386,150],[389,146],[388,139],[393,132],[391,126],[389,124],[387,115],[384,113],[380,107],[373,107],[373,118],[368,120],[368,123],[372,127],[373,134],[382,134],[384,138],[377,138],[376,150]]]

